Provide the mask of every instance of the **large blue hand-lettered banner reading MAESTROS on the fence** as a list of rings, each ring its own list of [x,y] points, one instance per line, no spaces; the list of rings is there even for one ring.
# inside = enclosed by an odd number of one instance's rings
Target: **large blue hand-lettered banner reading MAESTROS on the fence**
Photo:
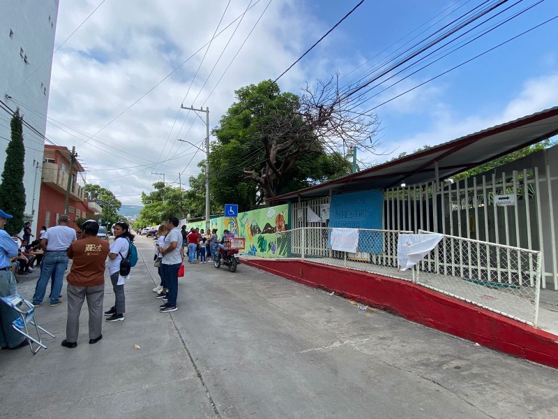
[[[367,228],[382,230],[384,195],[382,191],[343,193],[331,197],[329,225],[332,228]],[[329,242],[329,241],[328,241]],[[359,233],[359,251],[379,253],[383,235],[375,231]]]

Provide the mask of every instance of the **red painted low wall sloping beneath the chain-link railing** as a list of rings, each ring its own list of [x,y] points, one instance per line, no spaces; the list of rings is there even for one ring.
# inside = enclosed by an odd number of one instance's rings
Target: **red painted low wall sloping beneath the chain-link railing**
[[[482,346],[558,368],[558,336],[412,282],[304,260],[243,258],[243,263],[301,284],[334,291]]]

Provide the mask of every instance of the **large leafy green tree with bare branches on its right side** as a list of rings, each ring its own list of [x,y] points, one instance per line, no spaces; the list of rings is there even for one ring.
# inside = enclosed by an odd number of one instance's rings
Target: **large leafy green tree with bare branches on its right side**
[[[271,80],[235,91],[236,102],[213,130],[209,156],[212,198],[243,210],[273,196],[350,172],[342,150],[373,149],[376,115],[359,112],[336,77],[308,85],[301,96]]]

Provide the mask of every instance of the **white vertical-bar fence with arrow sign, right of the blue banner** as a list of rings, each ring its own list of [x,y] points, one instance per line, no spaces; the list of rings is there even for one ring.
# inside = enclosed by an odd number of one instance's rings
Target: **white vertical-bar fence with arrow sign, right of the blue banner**
[[[553,199],[558,193],[558,177],[550,176],[550,169],[547,165],[542,173],[534,167],[455,183],[428,182],[387,189],[384,228],[428,230],[541,250],[541,286],[558,290]]]

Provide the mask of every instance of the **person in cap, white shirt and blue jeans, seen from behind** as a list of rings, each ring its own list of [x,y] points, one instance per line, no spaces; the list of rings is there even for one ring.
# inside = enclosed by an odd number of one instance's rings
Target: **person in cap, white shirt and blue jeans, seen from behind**
[[[72,242],[77,240],[75,230],[68,227],[70,217],[61,215],[58,217],[58,226],[49,228],[43,235],[40,245],[45,251],[43,258],[43,269],[40,270],[40,277],[35,287],[35,295],[33,295],[33,305],[40,306],[47,291],[49,278],[54,273],[54,285],[50,294],[51,307],[62,304],[60,300],[60,292],[63,286],[63,277],[66,267],[68,267],[68,248]]]

